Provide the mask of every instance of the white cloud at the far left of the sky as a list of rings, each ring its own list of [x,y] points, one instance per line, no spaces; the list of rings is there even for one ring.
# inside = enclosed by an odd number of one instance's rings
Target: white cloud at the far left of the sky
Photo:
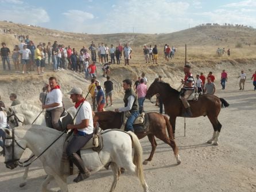
[[[30,25],[39,25],[50,21],[46,10],[30,6],[14,6],[10,9],[3,9],[0,11],[0,17],[8,21]]]

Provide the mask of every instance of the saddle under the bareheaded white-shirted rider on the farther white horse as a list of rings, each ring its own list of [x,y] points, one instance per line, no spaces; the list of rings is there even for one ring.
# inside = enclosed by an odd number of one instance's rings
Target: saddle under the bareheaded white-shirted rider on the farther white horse
[[[53,128],[51,111],[45,112],[45,122],[47,127]],[[59,131],[64,131],[68,124],[73,124],[73,118],[64,108],[59,119],[59,125],[61,127]]]

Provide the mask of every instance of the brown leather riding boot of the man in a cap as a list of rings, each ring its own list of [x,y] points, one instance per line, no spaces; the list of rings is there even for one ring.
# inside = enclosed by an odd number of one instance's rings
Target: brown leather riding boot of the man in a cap
[[[80,182],[84,179],[87,179],[90,177],[90,171],[84,167],[83,160],[80,158],[79,155],[74,152],[72,155],[69,156],[69,159],[76,165],[76,167],[79,169],[79,174],[75,179],[73,179],[73,182]]]

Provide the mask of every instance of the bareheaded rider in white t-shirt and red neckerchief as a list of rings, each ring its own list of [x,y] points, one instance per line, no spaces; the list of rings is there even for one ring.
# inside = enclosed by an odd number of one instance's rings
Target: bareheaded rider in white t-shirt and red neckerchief
[[[62,131],[59,124],[61,113],[63,113],[62,93],[56,77],[49,78],[49,85],[46,85],[46,88],[48,94],[46,95],[45,104],[42,104],[42,108],[46,109],[46,125]],[[51,116],[51,121],[47,118],[48,115]]]

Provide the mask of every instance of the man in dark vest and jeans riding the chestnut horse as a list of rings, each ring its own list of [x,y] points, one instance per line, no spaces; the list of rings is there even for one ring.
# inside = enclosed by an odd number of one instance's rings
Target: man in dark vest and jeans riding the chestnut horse
[[[133,122],[139,116],[139,107],[137,95],[131,87],[132,83],[130,79],[123,80],[123,89],[125,90],[125,96],[123,97],[123,102],[125,102],[125,107],[115,109],[115,112],[130,112],[130,116],[126,122],[125,131],[133,131]]]

